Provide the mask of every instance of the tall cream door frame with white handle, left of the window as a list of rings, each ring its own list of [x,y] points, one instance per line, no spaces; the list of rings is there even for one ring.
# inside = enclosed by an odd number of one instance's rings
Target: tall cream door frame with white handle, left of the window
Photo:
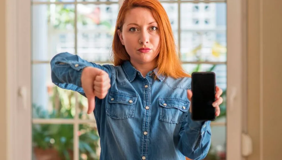
[[[32,159],[30,8],[30,0],[6,0],[8,160]]]

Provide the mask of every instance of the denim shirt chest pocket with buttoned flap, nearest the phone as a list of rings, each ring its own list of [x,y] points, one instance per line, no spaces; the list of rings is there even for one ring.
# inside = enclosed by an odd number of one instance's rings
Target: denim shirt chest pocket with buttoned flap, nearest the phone
[[[160,120],[169,123],[182,123],[189,112],[190,102],[186,99],[160,98]]]

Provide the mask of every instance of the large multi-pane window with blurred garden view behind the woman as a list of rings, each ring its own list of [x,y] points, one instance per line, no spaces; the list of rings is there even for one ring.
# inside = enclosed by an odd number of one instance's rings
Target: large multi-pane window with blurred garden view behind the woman
[[[51,83],[49,61],[54,55],[67,51],[95,63],[110,63],[109,49],[120,3],[118,0],[31,2],[29,9],[32,36],[29,40],[32,54],[28,51],[23,53],[29,54],[27,57],[31,58],[32,132],[29,133],[32,134],[32,139],[29,144],[33,157],[50,156],[50,159],[55,159],[59,156],[75,160],[99,158],[99,136],[94,116],[86,114],[86,98],[54,86]],[[226,100],[229,70],[227,57],[229,53],[237,54],[234,51],[228,51],[227,54],[228,3],[226,5],[225,0],[178,0],[162,1],[162,4],[171,21],[183,67],[190,73],[215,72],[217,85],[224,90],[223,97]],[[20,13],[21,11],[18,12]],[[28,21],[21,23],[27,24]],[[24,38],[20,40],[24,41]],[[224,101],[221,117],[212,122],[212,146],[206,159],[226,159],[226,153],[233,152],[230,147],[226,150],[231,138],[226,138],[226,135],[236,127],[226,129],[226,118],[229,115],[226,106]],[[48,149],[43,150],[46,148]],[[240,148],[237,147],[237,150]]]

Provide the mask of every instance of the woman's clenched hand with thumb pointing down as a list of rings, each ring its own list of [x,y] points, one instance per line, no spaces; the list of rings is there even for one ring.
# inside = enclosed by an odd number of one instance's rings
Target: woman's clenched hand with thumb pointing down
[[[81,74],[81,86],[88,99],[88,114],[95,108],[95,97],[103,99],[110,88],[110,77],[107,72],[99,68],[85,67]]]

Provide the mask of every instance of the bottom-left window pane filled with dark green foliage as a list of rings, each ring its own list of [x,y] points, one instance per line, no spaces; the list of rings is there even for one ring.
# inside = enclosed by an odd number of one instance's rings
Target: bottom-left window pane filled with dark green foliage
[[[73,125],[33,124],[33,159],[72,160],[73,133]]]

